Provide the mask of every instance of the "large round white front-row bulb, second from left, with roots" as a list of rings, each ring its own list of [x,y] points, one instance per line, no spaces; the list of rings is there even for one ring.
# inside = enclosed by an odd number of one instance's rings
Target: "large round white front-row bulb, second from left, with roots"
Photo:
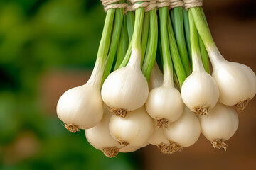
[[[136,55],[134,57],[132,55]],[[102,86],[102,99],[112,108],[114,115],[125,117],[127,111],[134,111],[146,102],[149,85],[140,69],[140,51],[132,50],[126,67],[112,72]]]

